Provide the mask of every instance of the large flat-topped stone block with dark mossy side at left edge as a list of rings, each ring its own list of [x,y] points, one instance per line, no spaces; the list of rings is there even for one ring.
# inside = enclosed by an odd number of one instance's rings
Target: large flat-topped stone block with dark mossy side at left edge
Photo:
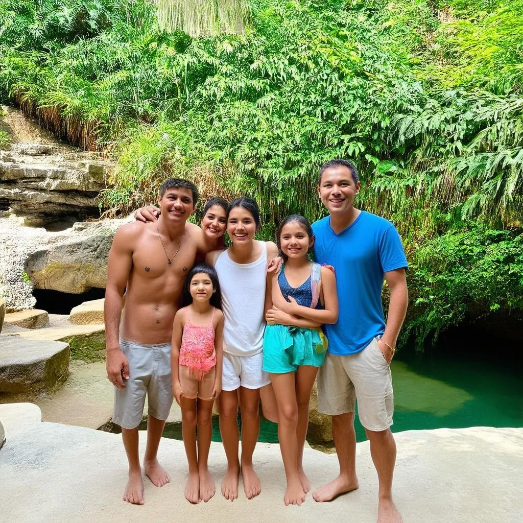
[[[0,337],[0,392],[52,389],[69,369],[69,344]]]

